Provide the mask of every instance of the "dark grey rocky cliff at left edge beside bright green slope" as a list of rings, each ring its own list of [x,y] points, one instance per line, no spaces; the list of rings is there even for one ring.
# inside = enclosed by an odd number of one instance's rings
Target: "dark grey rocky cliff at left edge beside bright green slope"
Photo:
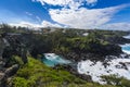
[[[0,87],[6,87],[5,83],[16,73],[20,64],[10,63],[13,55],[22,57],[22,61],[27,63],[26,50],[18,39],[9,35],[0,37]]]

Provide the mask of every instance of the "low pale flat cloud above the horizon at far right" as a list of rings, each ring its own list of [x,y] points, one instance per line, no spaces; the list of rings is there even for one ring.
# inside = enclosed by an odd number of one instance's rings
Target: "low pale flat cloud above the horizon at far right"
[[[101,26],[102,29],[110,29],[110,30],[130,30],[130,23],[110,23]]]

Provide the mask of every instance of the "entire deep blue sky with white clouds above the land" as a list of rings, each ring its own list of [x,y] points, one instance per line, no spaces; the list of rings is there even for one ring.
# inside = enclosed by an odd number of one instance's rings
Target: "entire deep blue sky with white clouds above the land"
[[[130,30],[130,0],[0,0],[0,23]]]

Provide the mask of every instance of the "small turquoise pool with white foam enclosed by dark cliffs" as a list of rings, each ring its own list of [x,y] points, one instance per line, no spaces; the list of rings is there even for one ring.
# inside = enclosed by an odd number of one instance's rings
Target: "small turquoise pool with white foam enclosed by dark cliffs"
[[[56,64],[68,64],[70,61],[63,59],[55,53],[44,53],[44,58],[42,59],[43,63],[48,66],[54,66]]]

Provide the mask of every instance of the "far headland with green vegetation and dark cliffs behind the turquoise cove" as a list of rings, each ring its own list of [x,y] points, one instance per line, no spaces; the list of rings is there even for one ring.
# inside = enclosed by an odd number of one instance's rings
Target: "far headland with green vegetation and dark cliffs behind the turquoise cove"
[[[44,52],[62,54],[68,52],[91,52],[104,55],[112,54],[113,52],[118,53],[121,49],[118,46],[114,48],[112,45],[118,42],[117,38],[121,41],[122,38],[120,39],[120,37],[128,34],[127,32],[73,28],[56,28],[54,30],[40,28],[39,30],[31,30],[26,27],[13,27],[5,24],[0,25],[0,33],[3,33],[3,35],[4,33],[21,34],[17,38],[24,42],[34,58]],[[84,33],[89,33],[89,35],[83,36],[82,34]],[[110,50],[107,48],[110,48]]]

